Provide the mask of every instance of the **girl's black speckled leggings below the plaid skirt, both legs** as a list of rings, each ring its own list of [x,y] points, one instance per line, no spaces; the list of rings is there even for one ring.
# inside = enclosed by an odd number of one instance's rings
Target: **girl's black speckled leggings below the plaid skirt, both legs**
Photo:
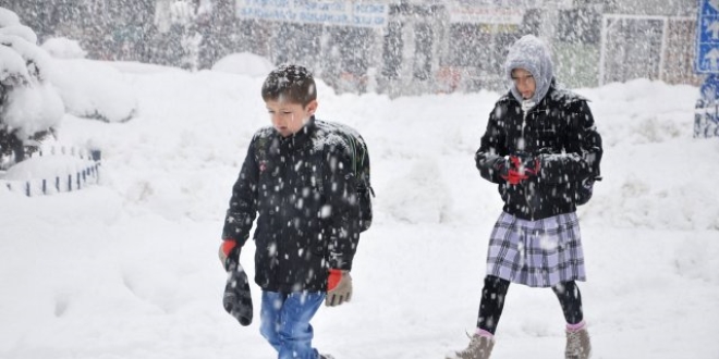
[[[477,318],[477,327],[495,334],[499,318],[504,308],[504,297],[509,290],[510,282],[497,276],[487,275],[485,286],[482,289],[482,300],[479,302],[479,315]],[[582,312],[582,294],[574,281],[560,283],[551,289],[559,299],[562,307],[564,319],[569,324],[576,324],[584,319]]]

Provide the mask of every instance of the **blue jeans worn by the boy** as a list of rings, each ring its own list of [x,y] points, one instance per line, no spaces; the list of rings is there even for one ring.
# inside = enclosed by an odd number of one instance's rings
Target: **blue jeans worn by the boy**
[[[278,359],[317,359],[312,347],[309,321],[325,300],[325,293],[263,292],[259,333],[277,350]]]

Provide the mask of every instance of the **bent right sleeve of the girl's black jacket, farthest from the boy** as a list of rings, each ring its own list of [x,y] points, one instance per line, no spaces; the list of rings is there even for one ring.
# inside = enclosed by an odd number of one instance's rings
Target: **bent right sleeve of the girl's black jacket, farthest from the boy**
[[[599,176],[602,148],[592,111],[586,100],[569,106],[568,131],[564,133],[564,152],[541,154],[541,180],[547,183],[580,182]]]

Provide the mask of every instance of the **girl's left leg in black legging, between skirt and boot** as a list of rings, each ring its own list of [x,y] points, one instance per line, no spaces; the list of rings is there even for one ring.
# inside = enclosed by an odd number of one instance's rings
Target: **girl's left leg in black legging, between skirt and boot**
[[[479,315],[477,318],[477,330],[479,334],[495,335],[499,318],[504,308],[504,297],[509,290],[510,282],[493,275],[485,277],[485,286],[482,289],[479,302]]]

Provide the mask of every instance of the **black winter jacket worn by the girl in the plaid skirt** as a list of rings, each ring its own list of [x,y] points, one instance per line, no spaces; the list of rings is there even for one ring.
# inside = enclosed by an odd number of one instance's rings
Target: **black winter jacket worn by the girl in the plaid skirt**
[[[510,185],[500,175],[505,156],[523,152],[540,160],[537,176]],[[503,210],[520,219],[540,220],[576,210],[580,182],[599,175],[601,137],[587,100],[549,88],[526,119],[521,103],[508,92],[495,104],[475,154],[482,176],[499,184]]]

